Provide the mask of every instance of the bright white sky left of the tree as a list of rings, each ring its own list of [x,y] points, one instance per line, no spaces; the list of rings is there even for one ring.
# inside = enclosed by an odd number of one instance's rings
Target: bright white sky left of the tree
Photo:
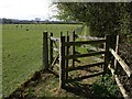
[[[0,18],[50,20],[56,14],[56,8],[51,3],[52,0],[0,0]]]

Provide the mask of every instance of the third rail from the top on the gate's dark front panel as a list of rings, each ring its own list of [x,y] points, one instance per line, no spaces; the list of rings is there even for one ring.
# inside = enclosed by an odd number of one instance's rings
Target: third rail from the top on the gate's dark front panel
[[[105,62],[102,62],[102,63],[96,63],[96,64],[89,64],[89,65],[84,65],[84,66],[72,67],[72,68],[68,68],[67,70],[72,72],[72,70],[78,70],[78,69],[85,69],[85,68],[89,68],[89,67],[94,67],[94,66],[99,66],[99,65],[103,65],[103,64],[105,64]]]

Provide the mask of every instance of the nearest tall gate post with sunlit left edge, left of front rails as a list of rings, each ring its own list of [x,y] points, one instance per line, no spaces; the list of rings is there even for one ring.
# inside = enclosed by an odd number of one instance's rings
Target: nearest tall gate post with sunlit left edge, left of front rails
[[[59,88],[64,88],[65,86],[65,36],[61,36],[59,41]]]

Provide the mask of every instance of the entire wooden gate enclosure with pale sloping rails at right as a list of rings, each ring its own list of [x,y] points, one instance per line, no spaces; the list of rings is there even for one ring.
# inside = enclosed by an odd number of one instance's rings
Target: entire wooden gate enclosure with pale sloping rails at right
[[[129,68],[129,66],[123,62],[123,59],[118,55],[118,41],[119,36],[111,36],[111,35],[106,35],[103,38],[98,38],[98,37],[85,37],[87,41],[75,41],[76,37],[84,37],[80,35],[76,35],[75,32],[70,33],[69,35],[63,36],[61,34],[61,37],[53,37],[53,33],[47,36],[47,32],[44,32],[43,34],[43,64],[44,64],[44,69],[48,69],[53,72],[53,67],[58,61],[58,68],[59,72],[54,72],[59,77],[59,87],[64,88],[65,85],[74,79],[69,79],[68,73],[72,70],[79,70],[88,67],[94,67],[94,66],[100,66],[102,65],[102,72],[95,74],[95,75],[89,75],[89,76],[84,76],[79,77],[78,79],[85,79],[88,77],[94,77],[102,74],[107,74],[109,69],[111,70],[112,75],[114,76],[114,79],[117,81],[117,85],[119,86],[123,97],[129,98],[125,89],[123,88],[122,84],[120,82],[118,75],[116,74],[118,67],[117,67],[117,61],[123,68],[123,70],[127,73],[128,77],[130,77],[130,80],[132,79],[132,72]],[[114,44],[112,41],[114,40]],[[58,42],[59,48],[53,46],[57,46],[56,42]],[[75,46],[76,45],[88,45],[88,44],[105,44],[105,48],[91,53],[85,53],[85,54],[76,54],[75,52]],[[50,47],[48,47],[50,46]],[[113,48],[116,47],[116,52]],[[50,48],[50,50],[48,50]],[[69,51],[70,50],[70,51]],[[54,51],[57,52],[56,56],[53,57]],[[48,53],[50,52],[50,53]],[[103,59],[102,62],[98,62],[96,64],[88,64],[84,66],[77,66],[75,67],[75,62],[77,58],[80,57],[88,57],[88,56],[95,56],[95,55],[102,55],[103,54]],[[111,59],[111,57],[114,57],[116,59]],[[69,59],[72,59],[72,67],[69,67]],[[114,67],[110,65],[110,63],[114,63]],[[75,78],[77,79],[77,78]]]

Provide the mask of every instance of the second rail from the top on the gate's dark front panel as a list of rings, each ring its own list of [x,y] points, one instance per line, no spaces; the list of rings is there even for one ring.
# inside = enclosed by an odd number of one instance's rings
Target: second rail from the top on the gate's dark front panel
[[[95,55],[100,55],[100,54],[105,54],[105,53],[106,53],[106,51],[92,52],[92,53],[80,54],[80,55],[68,55],[68,56],[64,56],[64,59],[73,59],[73,58],[79,58],[79,57],[95,56]]]

